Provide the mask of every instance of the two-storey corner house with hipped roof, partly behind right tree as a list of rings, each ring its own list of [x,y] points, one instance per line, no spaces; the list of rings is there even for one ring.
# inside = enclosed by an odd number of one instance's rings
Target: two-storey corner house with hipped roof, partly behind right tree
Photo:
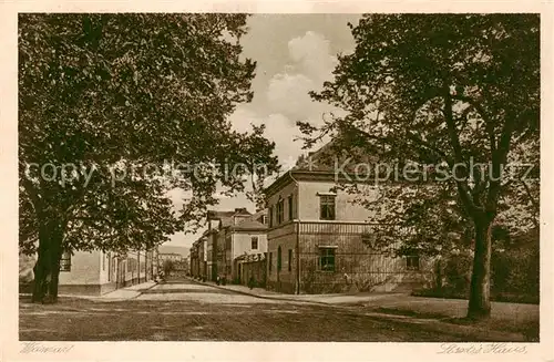
[[[335,190],[337,175],[326,164],[328,152],[321,148],[308,166],[298,164],[266,189],[267,289],[408,291],[425,283],[425,260],[392,257],[373,247],[380,226],[367,223],[369,210],[352,204],[353,195]]]

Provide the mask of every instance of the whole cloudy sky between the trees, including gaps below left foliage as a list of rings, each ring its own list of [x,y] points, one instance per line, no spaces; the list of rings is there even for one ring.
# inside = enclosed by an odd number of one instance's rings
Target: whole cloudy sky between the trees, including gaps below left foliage
[[[240,104],[229,116],[233,127],[248,131],[250,124],[266,125],[266,137],[276,143],[275,154],[284,169],[294,166],[306,151],[297,121],[321,124],[322,114],[337,111],[328,104],[311,101],[309,91],[318,91],[332,80],[337,54],[353,51],[355,42],[348,22],[358,23],[357,14],[254,14],[248,19],[248,33],[243,37],[244,56],[256,61],[256,77],[252,83],[254,99]],[[181,190],[171,197],[176,208],[182,205]],[[233,210],[254,205],[244,195],[220,197],[217,210]],[[191,247],[196,234],[173,235],[168,246]]]

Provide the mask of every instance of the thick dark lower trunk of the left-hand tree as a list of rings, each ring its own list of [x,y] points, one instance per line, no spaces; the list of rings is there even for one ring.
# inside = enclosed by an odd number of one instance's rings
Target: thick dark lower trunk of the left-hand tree
[[[54,303],[58,301],[58,281],[62,255],[62,235],[59,227],[43,226],[39,230],[39,250],[34,265],[32,301]]]

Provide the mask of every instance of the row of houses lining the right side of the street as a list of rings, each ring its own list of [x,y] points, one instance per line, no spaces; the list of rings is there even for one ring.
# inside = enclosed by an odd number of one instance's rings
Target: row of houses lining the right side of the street
[[[429,260],[372,246],[380,226],[367,223],[369,210],[352,203],[353,195],[335,190],[332,169],[312,162],[266,188],[265,210],[209,211],[191,250],[192,276],[243,285],[252,278],[285,293],[409,291],[431,283]]]

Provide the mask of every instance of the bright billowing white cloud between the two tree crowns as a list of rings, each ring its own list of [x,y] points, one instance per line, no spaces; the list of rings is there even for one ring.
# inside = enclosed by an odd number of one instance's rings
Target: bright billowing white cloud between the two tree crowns
[[[321,125],[324,114],[340,112],[326,103],[311,100],[309,92],[321,89],[332,77],[337,59],[331,54],[329,41],[321,34],[307,31],[287,43],[288,61],[283,61],[280,72],[269,79],[266,89],[267,104],[264,110],[250,111],[242,106],[232,115],[230,122],[237,131],[250,130],[250,124],[266,125],[266,136],[276,143],[275,153],[284,168],[294,165],[302,142],[297,121]]]

